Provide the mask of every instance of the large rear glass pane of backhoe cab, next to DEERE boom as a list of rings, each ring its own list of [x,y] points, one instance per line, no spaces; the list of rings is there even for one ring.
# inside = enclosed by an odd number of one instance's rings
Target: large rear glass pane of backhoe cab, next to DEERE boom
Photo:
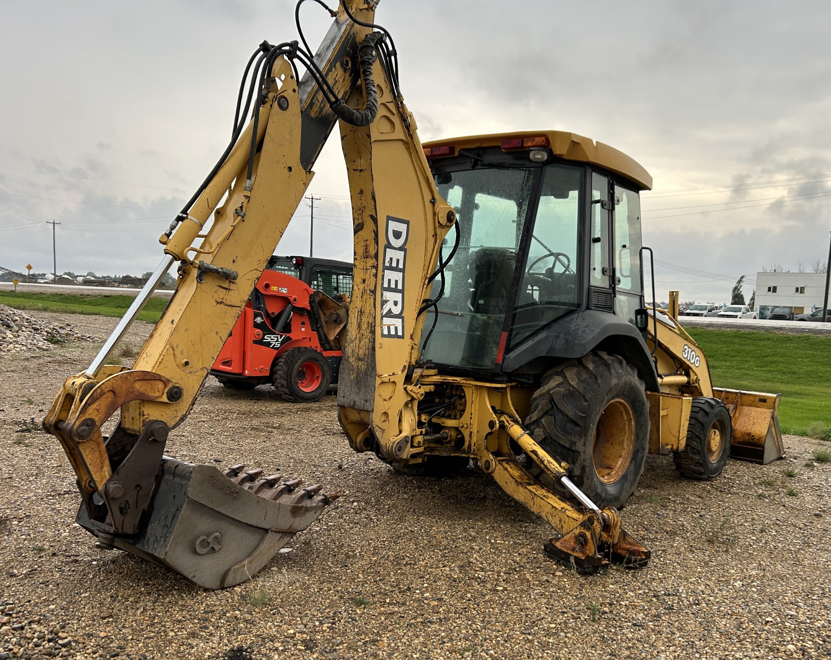
[[[459,367],[494,367],[533,181],[530,168],[479,168],[435,176],[440,195],[458,216],[460,241],[445,268],[438,318],[433,309],[425,313],[422,337],[436,323],[425,358]],[[454,242],[451,230],[443,246],[445,259]],[[434,280],[432,298],[440,292],[440,280]]]

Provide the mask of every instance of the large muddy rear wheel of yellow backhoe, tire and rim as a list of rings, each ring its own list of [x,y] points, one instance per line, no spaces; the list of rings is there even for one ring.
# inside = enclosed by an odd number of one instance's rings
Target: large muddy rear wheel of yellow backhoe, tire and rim
[[[649,449],[649,404],[635,367],[591,352],[554,367],[531,398],[525,426],[601,509],[626,505]],[[538,477],[568,494],[546,475]]]

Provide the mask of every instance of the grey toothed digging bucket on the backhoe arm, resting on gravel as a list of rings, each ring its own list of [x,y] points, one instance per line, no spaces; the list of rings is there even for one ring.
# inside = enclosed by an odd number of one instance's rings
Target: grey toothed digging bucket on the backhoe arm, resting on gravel
[[[243,472],[235,465],[192,465],[165,457],[151,510],[133,536],[113,536],[81,505],[77,521],[101,547],[118,549],[184,575],[205,589],[225,589],[251,578],[337,495],[300,480]]]

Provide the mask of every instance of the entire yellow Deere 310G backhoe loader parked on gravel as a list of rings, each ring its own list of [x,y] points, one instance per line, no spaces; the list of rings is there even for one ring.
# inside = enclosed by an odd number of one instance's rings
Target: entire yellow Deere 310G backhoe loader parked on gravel
[[[553,526],[553,557],[584,571],[645,564],[617,509],[647,452],[674,452],[694,479],[720,473],[731,439],[739,456],[767,461],[782,453],[779,397],[713,389],[701,348],[646,308],[646,170],[562,131],[421,145],[375,7],[329,10],[314,57],[302,32],[253,53],[228,148],[161,236],[165,258],[145,289],[43,422],[76,471],[77,520],[101,547],[221,589],[337,497],[164,451],[339,124],[354,289],[351,301],[317,292],[312,313],[322,347],[343,351],[339,419],[352,448],[411,475],[472,462]],[[107,365],[175,262],[178,288],[134,366]]]

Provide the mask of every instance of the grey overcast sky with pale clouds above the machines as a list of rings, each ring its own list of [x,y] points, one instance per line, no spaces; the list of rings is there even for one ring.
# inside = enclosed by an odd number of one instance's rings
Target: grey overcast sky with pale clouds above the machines
[[[293,2],[5,2],[0,265],[137,274],[224,149],[243,66],[296,37]],[[331,19],[308,2],[309,42]],[[825,261],[831,229],[829,2],[383,0],[422,140],[553,128],[650,171],[660,292]],[[352,259],[337,140],[315,167],[315,254]],[[308,254],[308,208],[280,254]],[[686,271],[686,272],[685,272]],[[666,293],[659,293],[666,298]]]

